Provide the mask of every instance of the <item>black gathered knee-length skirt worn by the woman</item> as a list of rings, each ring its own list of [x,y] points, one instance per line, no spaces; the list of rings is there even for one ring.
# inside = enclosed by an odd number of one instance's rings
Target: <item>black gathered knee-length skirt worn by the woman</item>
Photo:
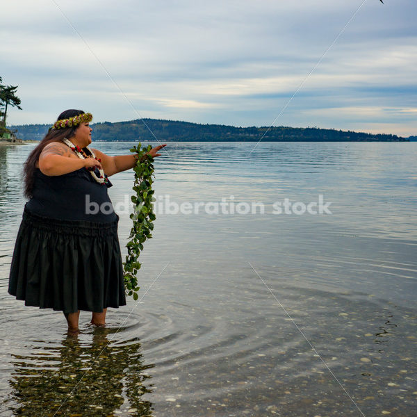
[[[117,223],[60,220],[24,209],[8,292],[64,313],[126,305]]]

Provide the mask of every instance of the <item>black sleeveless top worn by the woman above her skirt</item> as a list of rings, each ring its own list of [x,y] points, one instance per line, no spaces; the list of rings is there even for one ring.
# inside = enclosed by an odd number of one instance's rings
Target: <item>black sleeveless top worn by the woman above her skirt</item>
[[[44,217],[63,220],[113,222],[117,219],[107,188],[85,168],[63,175],[48,176],[35,168],[33,197],[26,209]]]

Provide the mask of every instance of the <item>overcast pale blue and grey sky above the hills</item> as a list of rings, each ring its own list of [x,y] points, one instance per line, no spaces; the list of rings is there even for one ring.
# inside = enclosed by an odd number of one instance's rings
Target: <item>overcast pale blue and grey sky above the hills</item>
[[[8,124],[81,108],[269,126],[362,2],[2,1],[0,76],[23,108]],[[417,1],[384,3],[365,1],[275,126],[417,135]]]

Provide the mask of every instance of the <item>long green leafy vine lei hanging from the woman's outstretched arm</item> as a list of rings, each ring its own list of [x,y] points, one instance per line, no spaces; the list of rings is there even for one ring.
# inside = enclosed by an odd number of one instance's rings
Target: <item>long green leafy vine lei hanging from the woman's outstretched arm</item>
[[[124,267],[124,286],[126,295],[133,295],[133,300],[138,300],[138,262],[139,254],[143,250],[145,240],[152,238],[152,223],[156,216],[152,205],[154,190],[152,190],[152,176],[154,174],[154,158],[147,154],[152,149],[151,145],[147,148],[138,146],[130,149],[130,152],[138,154],[136,156],[136,166],[133,167],[135,172],[135,182],[133,183],[133,193],[131,201],[133,202],[133,213],[130,218],[133,221],[133,227],[129,236],[130,241],[126,244],[127,255]]]

